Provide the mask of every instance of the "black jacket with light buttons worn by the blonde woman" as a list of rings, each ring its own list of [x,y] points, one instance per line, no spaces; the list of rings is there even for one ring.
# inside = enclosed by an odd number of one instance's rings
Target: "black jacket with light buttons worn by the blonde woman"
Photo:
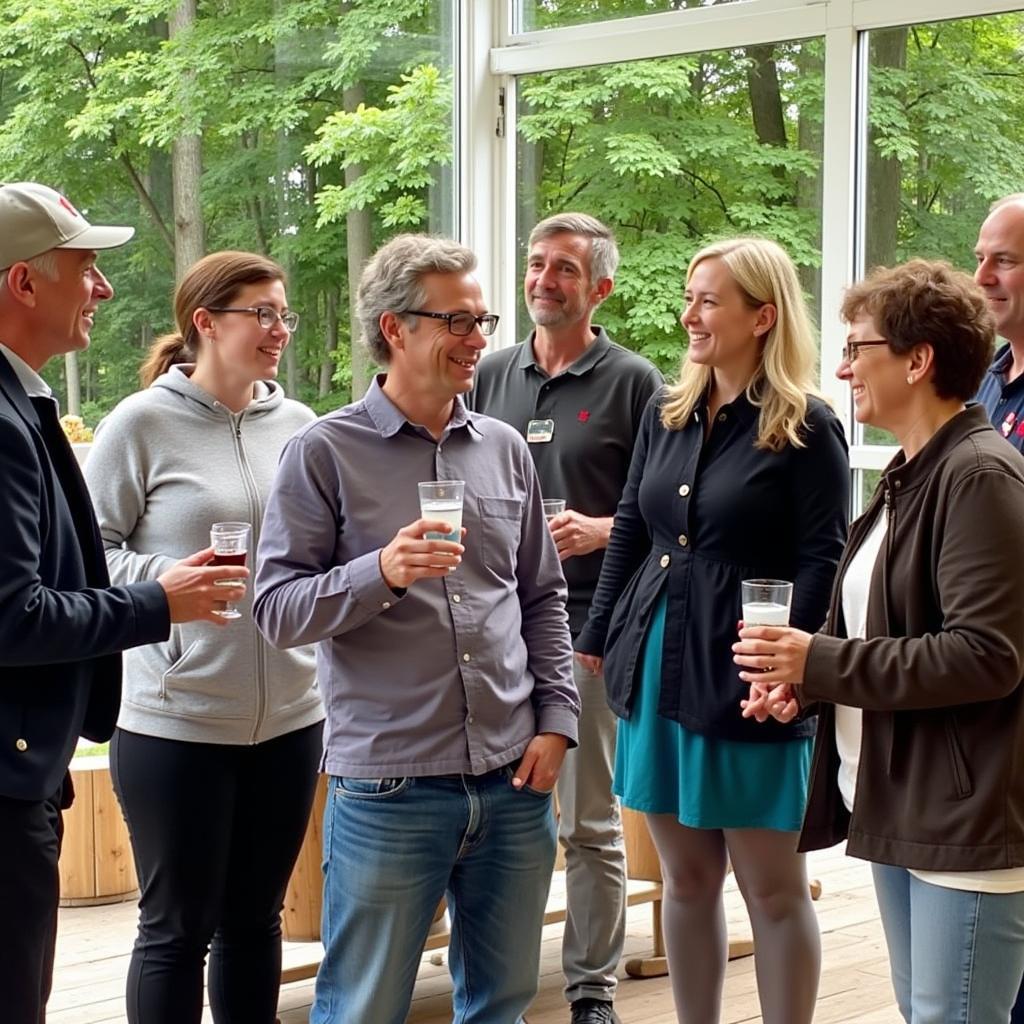
[[[604,655],[608,703],[628,718],[654,603],[668,591],[658,714],[720,739],[773,742],[812,735],[808,721],[763,725],[740,716],[748,692],[732,660],[740,582],[794,583],[791,622],[824,622],[846,541],[849,462],[843,428],[811,397],[805,446],[755,447],[759,410],[740,395],[707,440],[701,401],[680,430],[648,404],[615,511],[590,618],[575,642]]]

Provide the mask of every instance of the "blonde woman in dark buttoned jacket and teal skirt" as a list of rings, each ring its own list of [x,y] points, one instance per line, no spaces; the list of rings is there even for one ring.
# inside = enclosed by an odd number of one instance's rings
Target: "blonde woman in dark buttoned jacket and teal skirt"
[[[757,947],[765,1024],[814,1012],[820,940],[797,853],[814,723],[741,718],[740,581],[795,584],[792,622],[824,620],[846,537],[848,462],[814,395],[816,345],[773,242],[694,256],[680,381],[644,415],[590,620],[577,641],[620,716],[615,792],[643,811],[665,878],[680,1020],[719,1020],[731,861]]]

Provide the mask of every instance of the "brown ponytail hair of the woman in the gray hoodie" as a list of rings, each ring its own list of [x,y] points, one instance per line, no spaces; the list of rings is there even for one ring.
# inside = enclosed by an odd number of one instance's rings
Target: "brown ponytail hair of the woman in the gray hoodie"
[[[142,387],[148,387],[177,362],[196,361],[199,334],[191,317],[197,309],[229,306],[246,285],[263,281],[287,284],[281,264],[259,253],[225,249],[193,263],[174,291],[177,330],[158,338],[150,347],[138,372]]]

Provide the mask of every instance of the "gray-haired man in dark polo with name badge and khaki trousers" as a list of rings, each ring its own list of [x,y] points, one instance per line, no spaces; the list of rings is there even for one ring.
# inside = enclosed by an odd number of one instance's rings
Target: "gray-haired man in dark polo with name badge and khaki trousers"
[[[523,286],[536,330],[483,359],[469,399],[522,431],[544,497],[565,500],[550,526],[573,637],[587,622],[640,414],[663,383],[650,362],[591,326],[617,264],[615,240],[599,220],[582,213],[542,220],[529,237]],[[604,679],[579,660],[573,674],[580,745],[558,779],[568,911],[562,969],[572,1024],[611,1024],[626,929],[626,858],[611,793],[615,721]]]

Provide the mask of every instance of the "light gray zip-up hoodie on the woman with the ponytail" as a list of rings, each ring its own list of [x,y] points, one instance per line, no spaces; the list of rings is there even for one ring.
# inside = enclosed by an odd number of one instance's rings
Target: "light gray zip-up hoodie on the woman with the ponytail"
[[[214,522],[253,525],[285,442],[314,419],[272,381],[231,413],[172,367],[125,398],[96,429],[85,476],[114,583],[154,580],[210,544]],[[118,725],[130,732],[209,743],[256,743],[323,720],[312,647],[275,650],[252,618],[225,627],[174,626],[166,643],[124,655]]]

